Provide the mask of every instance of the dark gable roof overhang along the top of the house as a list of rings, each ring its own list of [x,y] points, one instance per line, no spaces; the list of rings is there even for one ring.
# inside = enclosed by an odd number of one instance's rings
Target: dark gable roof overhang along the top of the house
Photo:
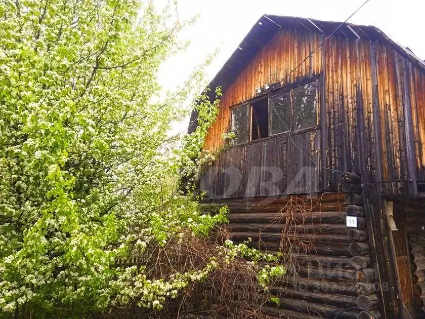
[[[338,28],[339,25],[341,25],[341,27]],[[209,83],[208,86],[211,91],[208,92],[208,96],[211,101],[214,101],[216,88],[220,86],[224,92],[233,81],[235,81],[236,77],[248,65],[251,59],[260,52],[280,28],[318,32],[325,36],[330,35],[338,28],[333,34],[334,36],[362,38],[369,41],[387,43],[425,72],[424,61],[419,59],[409,49],[393,41],[388,35],[375,26],[265,14],[252,26],[230,58]],[[188,128],[189,134],[197,127],[196,117],[196,112],[192,112]]]

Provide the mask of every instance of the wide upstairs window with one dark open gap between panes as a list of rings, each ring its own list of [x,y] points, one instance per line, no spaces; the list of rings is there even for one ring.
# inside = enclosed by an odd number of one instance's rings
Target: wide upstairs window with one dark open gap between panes
[[[318,125],[318,81],[286,90],[232,109],[231,131],[241,144],[284,132],[295,132]]]

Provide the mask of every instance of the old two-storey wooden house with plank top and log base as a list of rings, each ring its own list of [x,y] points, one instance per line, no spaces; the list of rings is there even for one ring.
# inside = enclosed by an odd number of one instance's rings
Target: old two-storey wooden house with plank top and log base
[[[425,63],[374,26],[263,15],[218,86],[205,201],[228,205],[235,242],[308,243],[266,311],[424,317]]]

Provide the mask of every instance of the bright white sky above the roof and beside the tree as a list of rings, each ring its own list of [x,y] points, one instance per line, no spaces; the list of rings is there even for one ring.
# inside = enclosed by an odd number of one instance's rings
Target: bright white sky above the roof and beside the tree
[[[178,0],[179,15],[188,19],[200,15],[195,25],[181,36],[189,48],[165,61],[158,74],[160,85],[173,90],[181,85],[208,53],[220,48],[207,69],[205,81],[216,75],[243,37],[263,14],[344,21],[365,0]],[[165,0],[154,0],[162,5]],[[374,25],[402,46],[425,59],[425,0],[370,0],[348,22]],[[175,125],[180,132],[188,118]]]

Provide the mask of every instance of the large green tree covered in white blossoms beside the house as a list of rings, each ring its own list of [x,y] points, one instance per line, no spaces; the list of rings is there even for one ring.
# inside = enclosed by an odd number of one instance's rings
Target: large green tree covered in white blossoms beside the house
[[[0,309],[161,307],[214,258],[153,279],[118,261],[225,221],[178,185],[182,167],[196,173],[218,102],[198,99],[191,136],[168,134],[201,72],[152,102],[184,24],[137,0],[5,0],[0,17]]]

